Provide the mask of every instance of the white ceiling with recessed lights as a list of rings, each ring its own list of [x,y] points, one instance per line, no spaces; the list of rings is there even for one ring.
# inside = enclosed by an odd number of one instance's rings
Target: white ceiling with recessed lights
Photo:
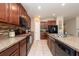
[[[79,3],[66,3],[65,6],[61,6],[61,3],[22,3],[27,10],[30,17],[41,16],[41,18],[56,16],[75,17],[79,16]],[[41,6],[41,10],[38,10],[38,6]]]

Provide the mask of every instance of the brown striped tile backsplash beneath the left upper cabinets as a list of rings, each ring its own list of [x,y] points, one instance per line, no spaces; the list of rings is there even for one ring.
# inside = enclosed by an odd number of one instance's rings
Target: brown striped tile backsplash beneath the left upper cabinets
[[[22,31],[25,31],[24,28],[21,28],[15,25],[0,23],[0,36],[8,36],[10,29],[13,29],[13,30],[20,29]]]

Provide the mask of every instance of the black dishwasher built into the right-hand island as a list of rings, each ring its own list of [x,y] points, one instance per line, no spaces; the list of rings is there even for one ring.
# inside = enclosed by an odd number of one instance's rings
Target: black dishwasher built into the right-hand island
[[[76,56],[76,51],[56,40],[56,55],[57,56]]]

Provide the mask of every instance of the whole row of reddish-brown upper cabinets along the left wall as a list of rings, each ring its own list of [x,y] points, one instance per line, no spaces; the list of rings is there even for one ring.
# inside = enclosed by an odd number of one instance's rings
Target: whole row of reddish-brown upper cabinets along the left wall
[[[0,3],[0,22],[19,26],[19,17],[26,17],[28,26],[31,25],[30,17],[20,3]]]

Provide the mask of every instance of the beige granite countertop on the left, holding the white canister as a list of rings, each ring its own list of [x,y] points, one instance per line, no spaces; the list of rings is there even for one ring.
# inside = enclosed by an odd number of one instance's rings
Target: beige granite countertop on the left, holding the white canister
[[[1,37],[0,38],[0,52],[4,51],[5,49],[13,46],[14,44],[20,42],[24,38],[26,38],[30,33],[18,35],[14,38],[9,37]]]

